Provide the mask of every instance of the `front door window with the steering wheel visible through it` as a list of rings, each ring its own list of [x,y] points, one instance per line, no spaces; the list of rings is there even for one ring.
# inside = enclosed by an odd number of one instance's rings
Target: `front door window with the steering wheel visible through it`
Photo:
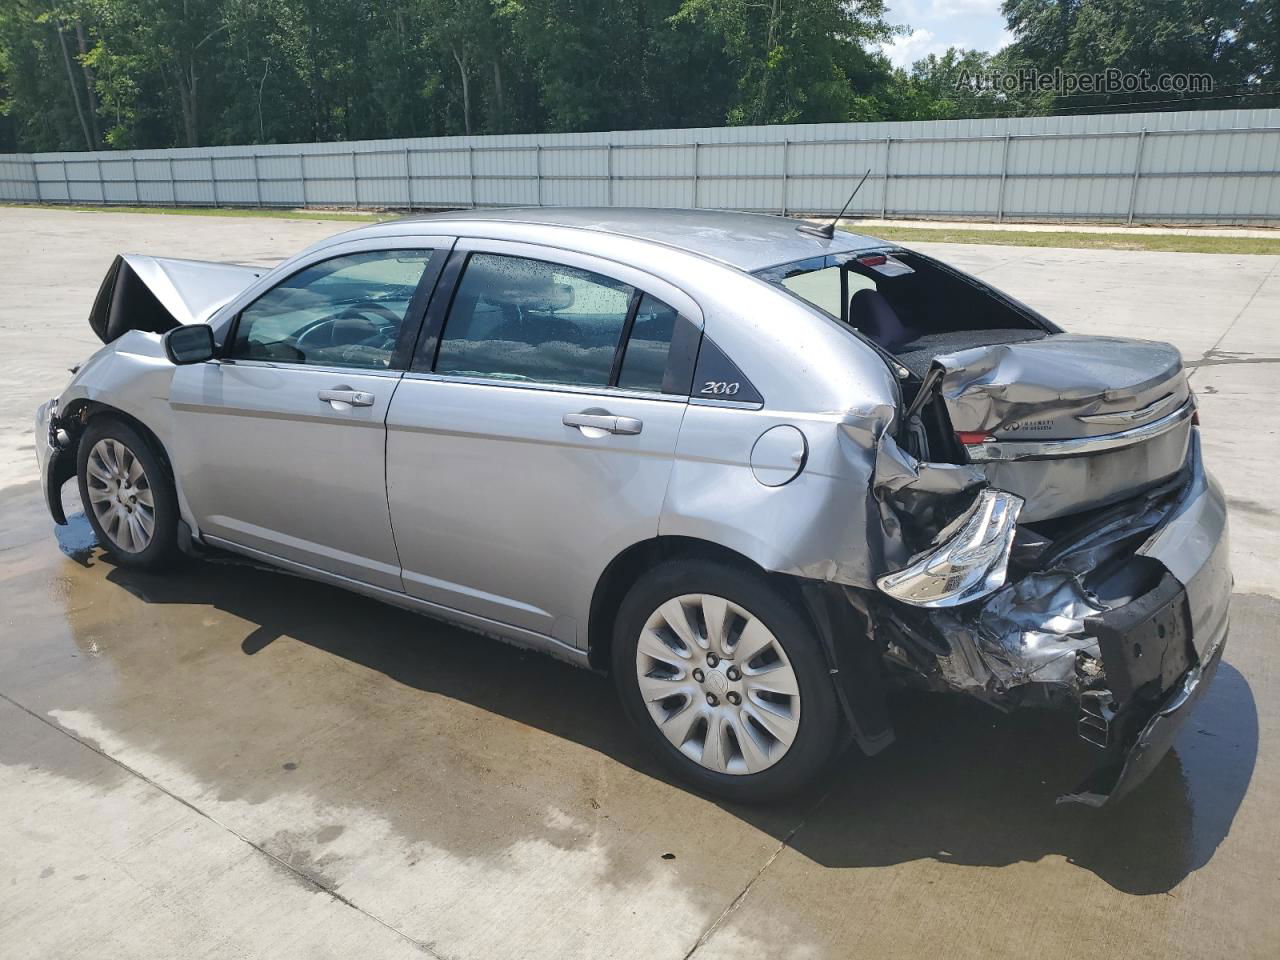
[[[431,255],[380,250],[300,270],[241,312],[232,356],[385,370]]]

